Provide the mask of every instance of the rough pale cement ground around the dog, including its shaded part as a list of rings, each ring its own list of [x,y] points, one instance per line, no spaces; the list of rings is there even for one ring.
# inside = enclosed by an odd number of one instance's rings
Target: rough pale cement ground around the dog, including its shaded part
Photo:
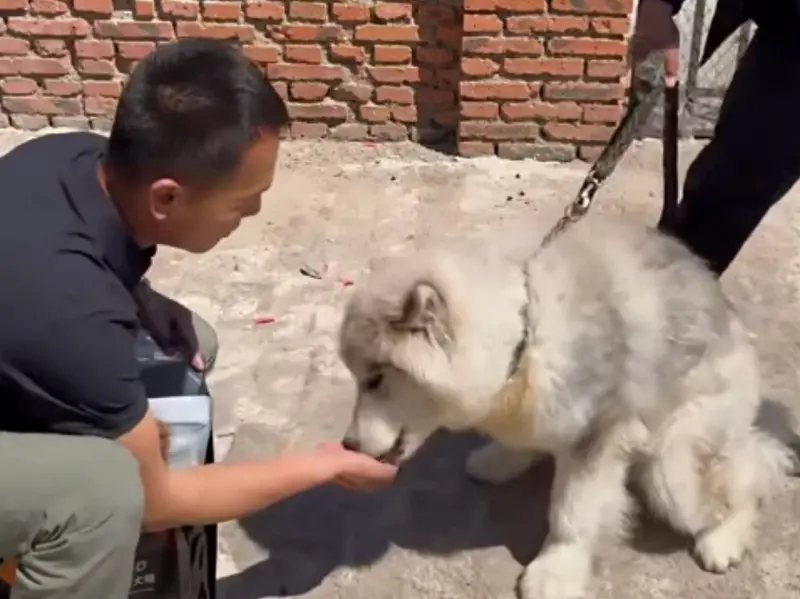
[[[0,132],[0,152],[26,137]],[[685,168],[700,145],[681,151]],[[660,148],[629,152],[594,210],[654,223]],[[371,256],[432,235],[479,235],[541,211],[555,218],[587,166],[454,159],[413,145],[286,144],[262,213],[204,256],[162,250],[153,281],[212,322],[222,351],[212,377],[217,441],[227,460],[270,456],[338,439],[352,405],[335,354],[350,289]],[[524,195],[523,195],[524,194]],[[510,199],[508,199],[510,198]],[[542,216],[544,218],[544,216]],[[724,284],[759,332],[765,422],[798,428],[800,188],[773,212]],[[323,280],[300,274],[328,265]],[[254,324],[272,316],[273,324]],[[225,599],[513,597],[521,563],[545,534],[552,470],[500,489],[467,482],[475,439],[443,435],[393,488],[354,495],[322,488],[222,529]],[[686,544],[643,523],[600,551],[596,599],[783,599],[800,593],[800,480],[770,504],[759,547],[726,575],[701,571]]]

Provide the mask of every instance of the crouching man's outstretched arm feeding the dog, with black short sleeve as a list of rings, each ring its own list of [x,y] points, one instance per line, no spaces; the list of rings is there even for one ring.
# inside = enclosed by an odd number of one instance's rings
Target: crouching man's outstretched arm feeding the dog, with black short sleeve
[[[39,389],[41,406],[52,406],[47,431],[116,439],[135,456],[146,529],[240,518],[340,476],[391,482],[395,468],[344,450],[169,468],[139,378],[134,308],[92,268],[88,261],[72,264],[73,286],[41,289],[32,312],[42,318],[26,327],[28,340],[13,359],[20,378]]]

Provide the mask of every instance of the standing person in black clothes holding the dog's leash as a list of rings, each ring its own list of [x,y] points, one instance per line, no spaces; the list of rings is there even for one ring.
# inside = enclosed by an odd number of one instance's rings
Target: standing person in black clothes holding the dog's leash
[[[634,60],[664,51],[668,82],[678,77],[673,15],[684,2],[639,3]],[[748,18],[757,25],[754,39],[728,87],[713,138],[687,172],[670,227],[718,275],[800,178],[800,0],[719,0],[715,37]],[[721,41],[711,38],[713,46]]]

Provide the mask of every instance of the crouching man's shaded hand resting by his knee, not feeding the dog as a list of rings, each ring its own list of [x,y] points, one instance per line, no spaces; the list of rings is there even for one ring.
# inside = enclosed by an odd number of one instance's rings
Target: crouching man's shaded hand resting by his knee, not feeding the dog
[[[154,291],[146,281],[136,289],[142,326],[153,336],[162,351],[179,353],[198,372],[205,370],[192,314],[178,302]]]

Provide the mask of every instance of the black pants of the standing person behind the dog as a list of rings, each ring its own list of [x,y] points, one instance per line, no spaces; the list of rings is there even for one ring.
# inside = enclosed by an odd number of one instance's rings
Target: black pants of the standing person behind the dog
[[[800,35],[800,34],[798,34]],[[800,43],[758,31],[669,231],[721,275],[800,178]]]

